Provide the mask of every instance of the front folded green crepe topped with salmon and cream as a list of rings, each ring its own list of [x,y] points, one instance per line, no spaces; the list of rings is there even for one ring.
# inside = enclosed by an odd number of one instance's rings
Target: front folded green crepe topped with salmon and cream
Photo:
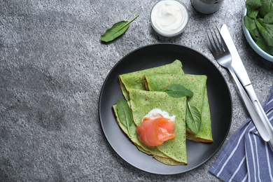
[[[177,102],[175,97],[170,97],[165,92],[148,92],[144,90],[130,89],[130,107],[132,110],[134,123],[130,127],[131,136],[127,132],[127,128],[117,122],[120,128],[125,132],[132,142],[139,148],[139,151],[153,155],[153,157],[167,165],[186,165],[186,97]],[[137,137],[137,126],[141,124],[141,119],[152,109],[161,109],[167,111],[170,116],[176,116],[174,139],[165,141],[160,146],[146,146]],[[113,110],[118,116],[116,105]]]

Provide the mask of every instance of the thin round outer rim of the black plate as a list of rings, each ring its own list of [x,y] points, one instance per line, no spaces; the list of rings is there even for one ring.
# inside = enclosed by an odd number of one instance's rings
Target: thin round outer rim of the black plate
[[[221,77],[223,78],[224,80],[224,83],[226,85],[226,87],[228,88],[228,97],[229,97],[229,100],[230,100],[230,121],[229,121],[229,125],[228,125],[228,130],[227,130],[227,133],[225,134],[225,137],[223,139],[223,141],[221,141],[221,144],[218,146],[218,148],[213,152],[211,153],[211,155],[209,156],[209,158],[207,158],[207,160],[204,160],[203,162],[200,162],[199,165],[196,165],[195,167],[192,167],[190,169],[187,169],[183,172],[176,172],[176,173],[167,173],[167,174],[161,174],[161,173],[156,173],[156,172],[149,172],[149,171],[146,171],[144,169],[141,169],[140,167],[136,167],[135,165],[132,164],[132,162],[129,162],[127,160],[125,160],[125,158],[123,158],[120,153],[118,153],[116,150],[115,150],[115,147],[113,146],[113,144],[111,144],[111,142],[109,141],[108,137],[107,137],[107,134],[105,132],[105,129],[104,129],[104,126],[102,124],[102,114],[101,114],[101,105],[102,105],[102,91],[104,90],[104,87],[106,86],[106,80],[108,80],[109,76],[111,75],[111,73],[113,72],[113,70],[116,69],[116,67],[120,64],[120,62],[123,62],[123,59],[125,59],[128,55],[131,55],[133,52],[136,52],[137,50],[141,50],[141,49],[145,49],[145,48],[148,48],[148,47],[152,47],[152,46],[156,46],[156,45],[174,45],[174,46],[179,46],[179,47],[182,47],[182,48],[188,48],[190,50],[193,50],[195,52],[197,52],[198,54],[202,55],[203,57],[205,57],[210,63],[211,65],[213,65],[215,67],[215,69],[217,69],[218,73],[221,74]],[[118,60],[118,62],[116,62],[116,64],[112,67],[112,69],[109,71],[109,73],[107,74],[106,78],[104,79],[104,83],[102,84],[102,88],[100,90],[100,93],[99,93],[99,107],[98,107],[98,111],[99,111],[99,121],[100,121],[100,125],[102,127],[102,131],[104,133],[104,137],[106,138],[108,144],[111,146],[111,148],[113,149],[113,151],[115,151],[116,154],[118,154],[118,156],[123,159],[125,162],[127,162],[128,164],[130,164],[132,167],[134,168],[137,168],[143,172],[147,172],[147,173],[150,173],[150,174],[159,174],[159,175],[175,175],[175,174],[183,174],[183,173],[186,173],[186,172],[190,172],[191,170],[193,169],[196,169],[202,165],[204,165],[204,163],[208,162],[214,155],[216,155],[216,153],[220,150],[220,148],[223,146],[223,144],[225,143],[225,140],[227,139],[228,137],[228,134],[230,132],[230,127],[231,127],[231,124],[232,124],[232,116],[233,116],[233,112],[232,112],[232,94],[230,92],[230,87],[228,87],[228,81],[225,79],[225,77],[223,76],[223,73],[217,68],[217,66],[211,61],[211,59],[209,59],[206,55],[202,54],[202,52],[198,51],[198,50],[194,50],[193,48],[190,48],[186,45],[179,45],[179,44],[176,44],[176,43],[152,43],[152,44],[148,44],[148,45],[143,45],[139,48],[136,48],[134,50],[131,50],[130,52],[128,52],[127,54],[125,54],[122,58],[120,58]]]

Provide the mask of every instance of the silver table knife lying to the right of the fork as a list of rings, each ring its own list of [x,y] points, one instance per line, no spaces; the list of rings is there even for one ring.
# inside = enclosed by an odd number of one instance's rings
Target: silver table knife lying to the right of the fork
[[[267,128],[267,131],[270,135],[269,146],[272,148],[273,151],[273,127],[270,124],[267,115],[265,111],[262,109],[258,97],[255,94],[253,86],[251,85],[251,80],[248,77],[243,62],[241,62],[241,58],[239,56],[235,43],[232,41],[232,37],[230,35],[230,31],[228,31],[227,25],[224,24],[221,27],[220,32],[232,56],[232,69],[234,69],[237,78],[239,78],[241,85],[243,85],[244,89],[246,90],[248,97],[251,99],[251,102],[255,107],[255,110],[258,112],[260,118],[262,119],[262,123]]]

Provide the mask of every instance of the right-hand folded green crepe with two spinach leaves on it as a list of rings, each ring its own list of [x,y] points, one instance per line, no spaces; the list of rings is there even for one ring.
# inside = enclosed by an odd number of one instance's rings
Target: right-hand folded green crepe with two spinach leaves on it
[[[172,84],[183,85],[191,90],[193,97],[188,98],[188,102],[195,106],[201,113],[200,132],[194,134],[189,127],[187,130],[187,139],[201,142],[211,142],[211,115],[209,111],[209,99],[207,96],[207,76],[189,75],[189,74],[160,74],[145,75],[143,85],[145,90],[162,91],[166,90]],[[177,98],[180,99],[180,98]]]

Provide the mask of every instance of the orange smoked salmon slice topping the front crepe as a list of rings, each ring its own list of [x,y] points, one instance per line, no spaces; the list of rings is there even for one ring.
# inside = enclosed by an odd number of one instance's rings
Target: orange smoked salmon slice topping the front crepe
[[[137,137],[147,146],[159,146],[175,137],[174,128],[174,121],[168,118],[144,118],[137,127]]]

